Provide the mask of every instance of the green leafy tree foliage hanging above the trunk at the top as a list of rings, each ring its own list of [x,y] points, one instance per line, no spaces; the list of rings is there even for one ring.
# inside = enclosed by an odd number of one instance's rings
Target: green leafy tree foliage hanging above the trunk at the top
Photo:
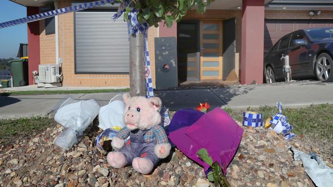
[[[122,3],[121,0],[118,2]],[[158,23],[164,20],[164,25],[170,28],[172,23],[180,21],[188,10],[196,8],[197,12],[204,13],[210,3],[211,0],[132,0],[126,7],[124,20],[128,20],[130,7],[134,7],[140,22],[147,21],[150,26],[158,27]]]

